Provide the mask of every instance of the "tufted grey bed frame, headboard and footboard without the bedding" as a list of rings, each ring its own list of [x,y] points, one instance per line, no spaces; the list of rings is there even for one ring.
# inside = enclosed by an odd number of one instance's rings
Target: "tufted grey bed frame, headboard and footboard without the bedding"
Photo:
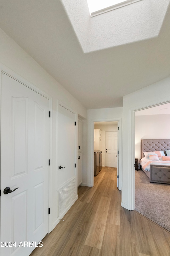
[[[170,149],[170,139],[141,139],[141,158],[145,157],[143,152],[153,152]],[[151,183],[165,183],[170,184],[170,165],[150,165],[150,171],[145,171],[142,166],[141,169],[149,177]]]

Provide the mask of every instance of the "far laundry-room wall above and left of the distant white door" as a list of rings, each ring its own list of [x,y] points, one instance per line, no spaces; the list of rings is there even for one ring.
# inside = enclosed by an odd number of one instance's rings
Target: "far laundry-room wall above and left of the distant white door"
[[[102,151],[102,166],[105,166],[105,131],[117,131],[117,125],[97,125],[95,129],[101,130],[101,151]]]

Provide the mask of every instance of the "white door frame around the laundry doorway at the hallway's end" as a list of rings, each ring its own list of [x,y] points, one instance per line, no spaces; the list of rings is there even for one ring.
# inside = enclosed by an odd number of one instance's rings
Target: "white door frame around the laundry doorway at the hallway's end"
[[[122,190],[122,118],[112,119],[92,119],[91,120],[91,187],[94,186],[94,123],[95,122],[118,122],[119,123],[119,186],[118,189]]]

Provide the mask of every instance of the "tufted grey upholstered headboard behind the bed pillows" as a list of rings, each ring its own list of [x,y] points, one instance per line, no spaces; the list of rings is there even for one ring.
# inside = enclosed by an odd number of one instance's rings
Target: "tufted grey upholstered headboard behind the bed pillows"
[[[165,151],[165,149],[170,149],[170,139],[141,139],[141,158],[145,157],[143,152]]]

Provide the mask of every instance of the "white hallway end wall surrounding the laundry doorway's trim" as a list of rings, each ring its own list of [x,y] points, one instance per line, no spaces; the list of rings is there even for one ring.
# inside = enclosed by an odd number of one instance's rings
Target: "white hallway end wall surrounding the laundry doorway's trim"
[[[89,109],[87,110],[87,169],[83,169],[83,185],[93,186],[93,156],[94,156],[94,122],[119,121],[122,124],[123,108]],[[122,129],[120,125],[120,137]],[[121,140],[120,140],[121,143]],[[120,150],[120,171],[121,171],[121,150]]]

